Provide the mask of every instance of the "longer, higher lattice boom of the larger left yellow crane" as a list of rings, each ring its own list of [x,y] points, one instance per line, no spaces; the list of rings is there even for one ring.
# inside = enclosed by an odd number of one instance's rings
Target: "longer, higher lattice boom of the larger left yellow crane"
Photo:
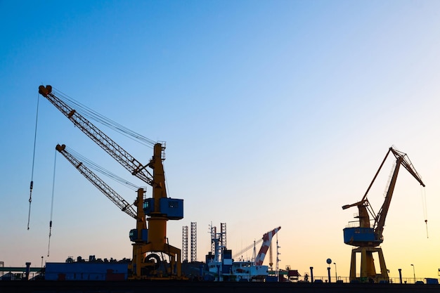
[[[119,164],[130,173],[140,178],[148,185],[154,185],[153,176],[145,169],[141,162],[138,162],[132,155],[124,150],[120,145],[112,141],[106,134],[103,133],[96,126],[91,124],[89,120],[80,115],[76,110],[72,109],[63,100],[52,93],[52,86],[39,86],[39,93],[51,102],[60,112],[65,115],[75,126],[81,129],[84,134],[89,136],[92,141],[98,144],[105,152],[112,156]]]

